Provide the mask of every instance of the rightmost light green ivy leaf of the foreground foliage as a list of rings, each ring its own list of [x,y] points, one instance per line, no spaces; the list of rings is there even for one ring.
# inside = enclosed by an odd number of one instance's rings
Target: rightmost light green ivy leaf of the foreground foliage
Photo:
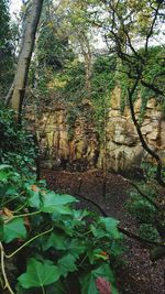
[[[118,230],[119,220],[111,217],[101,217],[100,220],[105,224],[106,230],[112,239],[120,239],[122,237]]]

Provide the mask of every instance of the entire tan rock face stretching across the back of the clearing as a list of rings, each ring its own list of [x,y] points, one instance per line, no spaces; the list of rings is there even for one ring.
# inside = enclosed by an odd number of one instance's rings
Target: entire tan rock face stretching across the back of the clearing
[[[99,135],[92,122],[92,106],[86,104],[87,116],[78,117],[73,126],[69,139],[67,107],[54,105],[34,110],[26,108],[31,128],[37,131],[42,166],[53,170],[86,171],[107,168],[127,172],[140,167],[142,160],[151,160],[143,150],[129,107],[120,110],[121,91],[114,88],[110,97],[107,118],[106,148],[99,142]],[[141,99],[134,105],[135,115],[141,111]],[[143,122],[142,134],[152,150],[160,154],[165,165],[165,117],[157,109],[154,99],[148,100]]]

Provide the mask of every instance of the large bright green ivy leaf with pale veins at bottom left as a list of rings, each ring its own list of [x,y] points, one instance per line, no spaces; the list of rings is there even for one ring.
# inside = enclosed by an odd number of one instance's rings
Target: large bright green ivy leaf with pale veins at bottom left
[[[59,279],[59,270],[56,265],[48,264],[47,261],[30,259],[28,271],[19,276],[19,282],[24,288],[43,287],[53,284]]]

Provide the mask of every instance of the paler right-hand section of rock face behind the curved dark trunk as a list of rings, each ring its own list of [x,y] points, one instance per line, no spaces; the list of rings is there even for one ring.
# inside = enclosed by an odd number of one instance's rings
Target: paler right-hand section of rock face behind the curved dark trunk
[[[107,166],[116,172],[125,172],[139,167],[142,160],[150,160],[150,156],[141,145],[129,107],[125,107],[121,115],[120,95],[120,89],[116,88],[110,101],[107,122]],[[140,98],[135,101],[134,109],[138,118],[141,111]],[[165,163],[165,118],[158,111],[155,99],[147,102],[141,131],[150,148],[158,153]]]

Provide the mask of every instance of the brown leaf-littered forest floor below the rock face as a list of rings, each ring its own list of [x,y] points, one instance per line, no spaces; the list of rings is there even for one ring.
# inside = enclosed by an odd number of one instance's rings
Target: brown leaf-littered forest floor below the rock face
[[[120,225],[132,232],[138,224],[124,207],[131,187],[120,175],[108,174],[107,194],[102,197],[103,177],[99,171],[85,173],[68,173],[42,171],[42,177],[47,179],[50,188],[70,195],[80,194],[96,202],[109,216],[120,220]],[[79,189],[80,188],[80,189]],[[80,199],[79,207],[90,210],[97,208]],[[120,294],[165,294],[165,259],[157,262],[150,260],[148,248],[140,242],[125,238],[128,248],[123,254],[127,261],[118,272],[118,288]]]

